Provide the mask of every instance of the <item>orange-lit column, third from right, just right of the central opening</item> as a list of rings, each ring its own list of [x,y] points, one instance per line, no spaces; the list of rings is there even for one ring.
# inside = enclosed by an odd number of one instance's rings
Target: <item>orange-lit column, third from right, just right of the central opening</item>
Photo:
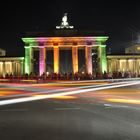
[[[78,72],[78,46],[72,47],[72,68],[73,73]]]

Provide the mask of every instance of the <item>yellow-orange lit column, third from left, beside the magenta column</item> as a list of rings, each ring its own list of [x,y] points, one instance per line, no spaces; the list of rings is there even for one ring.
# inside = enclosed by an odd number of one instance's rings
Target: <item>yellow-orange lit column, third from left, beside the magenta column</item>
[[[54,52],[54,73],[59,73],[59,47],[54,46],[53,47]]]

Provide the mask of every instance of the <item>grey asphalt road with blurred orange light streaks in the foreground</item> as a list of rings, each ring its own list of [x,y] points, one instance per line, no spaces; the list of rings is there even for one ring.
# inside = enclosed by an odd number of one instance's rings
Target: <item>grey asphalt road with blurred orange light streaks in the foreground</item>
[[[105,83],[94,84],[100,85]],[[12,86],[1,85],[0,102],[32,91],[32,86]],[[80,87],[42,84],[32,92]],[[34,94],[29,97],[43,96]],[[140,140],[140,84],[2,105],[0,140]]]

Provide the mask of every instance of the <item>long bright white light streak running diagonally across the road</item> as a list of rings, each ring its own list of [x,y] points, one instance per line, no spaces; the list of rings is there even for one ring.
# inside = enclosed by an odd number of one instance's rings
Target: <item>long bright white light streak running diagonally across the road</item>
[[[107,87],[97,87],[97,88],[91,88],[91,89],[69,91],[69,92],[56,93],[56,94],[50,94],[50,95],[44,95],[44,96],[9,99],[9,100],[0,101],[0,105],[2,106],[2,105],[8,105],[8,104],[29,102],[29,101],[35,101],[35,100],[54,98],[54,97],[58,97],[58,96],[73,95],[73,94],[79,94],[79,93],[91,92],[91,91],[98,91],[98,90],[103,90],[103,89],[111,89],[111,88],[118,88],[118,87],[124,87],[124,86],[132,86],[132,85],[137,85],[137,84],[140,84],[140,82],[131,82],[131,83],[126,83],[126,84],[122,84],[122,85],[113,85],[113,86],[107,86]]]

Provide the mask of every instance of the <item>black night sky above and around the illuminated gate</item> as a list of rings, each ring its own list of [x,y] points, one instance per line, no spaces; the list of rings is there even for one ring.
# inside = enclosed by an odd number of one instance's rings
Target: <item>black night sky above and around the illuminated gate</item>
[[[107,49],[123,53],[140,31],[139,3],[109,1],[19,1],[0,4],[0,48],[7,55],[24,56],[21,37],[26,31],[47,31],[59,25],[63,14],[76,29],[107,32]]]

